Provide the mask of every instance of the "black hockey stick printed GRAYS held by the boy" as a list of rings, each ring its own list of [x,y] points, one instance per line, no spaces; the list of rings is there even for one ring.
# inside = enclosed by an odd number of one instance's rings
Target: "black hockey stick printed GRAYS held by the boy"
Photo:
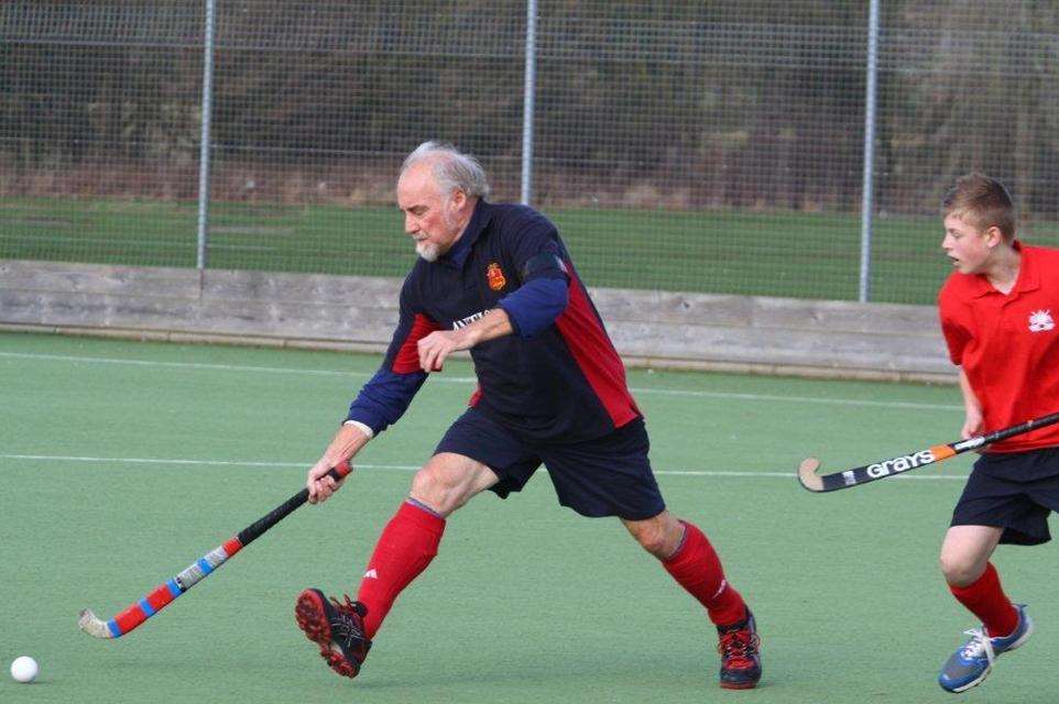
[[[993,432],[989,432],[984,436],[976,436],[974,438],[968,438],[967,440],[959,440],[948,444],[931,446],[926,450],[919,450],[917,452],[910,452],[896,458],[889,458],[888,460],[880,460],[878,462],[874,462],[872,464],[853,468],[852,470],[845,470],[844,472],[834,472],[833,474],[817,474],[817,470],[820,468],[820,460],[816,458],[806,458],[801,461],[801,464],[798,465],[798,481],[800,481],[801,485],[810,492],[833,492],[839,488],[860,486],[861,484],[867,484],[869,482],[874,482],[875,480],[900,474],[902,472],[907,472],[908,470],[915,470],[916,468],[924,466],[925,464],[941,462],[942,460],[948,460],[949,458],[956,457],[961,452],[975,450],[978,448],[987,446],[991,442],[1005,440],[1013,436],[1018,436],[1024,432],[1029,432],[1030,430],[1036,430],[1037,428],[1055,425],[1057,422],[1059,422],[1059,414],[1051,414],[1050,416],[1044,416],[1035,420],[1027,420],[1024,424],[1012,426],[1011,428],[994,430]]]

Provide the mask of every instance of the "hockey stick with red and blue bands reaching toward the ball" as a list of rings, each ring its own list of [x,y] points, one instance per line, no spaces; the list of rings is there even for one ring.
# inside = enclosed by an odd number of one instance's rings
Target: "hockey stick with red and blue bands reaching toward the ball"
[[[335,480],[341,480],[349,474],[352,468],[349,462],[341,462],[331,468],[327,473]],[[192,588],[203,578],[210,574],[214,570],[222,565],[233,554],[249,546],[262,534],[286,518],[296,508],[301,507],[309,498],[309,490],[303,488],[301,492],[283,502],[271,512],[259,518],[249,527],[239,532],[234,538],[214,548],[205,556],[187,566],[186,570],[171,580],[160,584],[153,592],[132,604],[129,608],[121,612],[110,620],[98,618],[90,608],[80,613],[77,625],[89,636],[96,638],[120,638],[127,632],[151,618],[160,610],[165,608],[170,602]]]

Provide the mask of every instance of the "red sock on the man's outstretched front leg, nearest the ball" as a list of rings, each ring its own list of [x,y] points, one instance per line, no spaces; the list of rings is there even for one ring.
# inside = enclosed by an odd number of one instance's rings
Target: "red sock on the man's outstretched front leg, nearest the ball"
[[[357,601],[368,607],[364,630],[374,638],[394,600],[437,554],[445,519],[405,502],[379,536]]]

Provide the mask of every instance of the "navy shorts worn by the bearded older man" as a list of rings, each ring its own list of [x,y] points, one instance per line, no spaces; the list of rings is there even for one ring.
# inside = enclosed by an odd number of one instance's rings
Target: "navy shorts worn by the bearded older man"
[[[665,510],[647,461],[642,418],[610,435],[570,444],[531,443],[469,408],[456,419],[435,453],[455,452],[481,462],[500,477],[490,490],[501,498],[522,491],[543,463],[559,504],[582,516],[653,518]]]

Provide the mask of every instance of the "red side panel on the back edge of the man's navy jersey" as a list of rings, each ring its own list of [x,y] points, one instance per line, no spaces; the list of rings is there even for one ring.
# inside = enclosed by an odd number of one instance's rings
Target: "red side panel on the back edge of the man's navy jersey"
[[[568,265],[568,268],[570,301],[555,324],[614,427],[621,428],[641,415],[625,384],[625,365],[618,356],[581,282],[574,274],[574,267]]]

